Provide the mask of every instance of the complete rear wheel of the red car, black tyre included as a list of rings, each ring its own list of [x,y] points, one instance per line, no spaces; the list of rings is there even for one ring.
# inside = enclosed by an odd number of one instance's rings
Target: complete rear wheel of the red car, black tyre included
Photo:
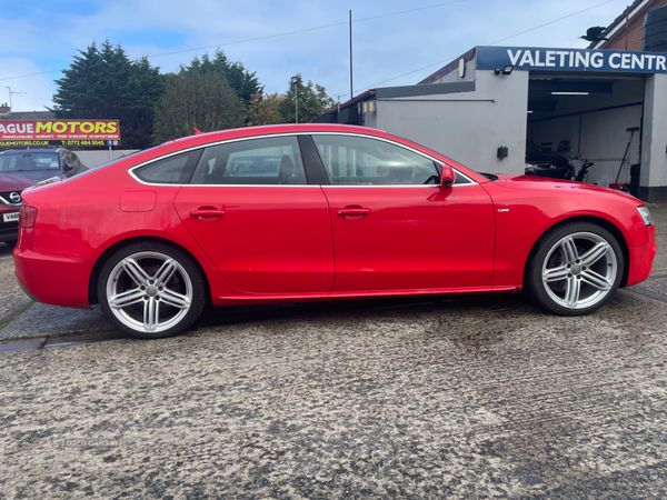
[[[104,262],[97,283],[107,318],[138,339],[161,339],[186,331],[201,314],[206,290],[192,258],[162,242],[119,249]]]

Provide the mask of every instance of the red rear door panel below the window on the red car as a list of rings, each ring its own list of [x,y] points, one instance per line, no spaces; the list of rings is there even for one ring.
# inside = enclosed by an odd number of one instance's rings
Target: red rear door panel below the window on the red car
[[[208,257],[239,290],[331,291],[331,221],[319,186],[188,186],[177,194],[175,206]],[[225,216],[191,216],[202,209],[225,211]]]

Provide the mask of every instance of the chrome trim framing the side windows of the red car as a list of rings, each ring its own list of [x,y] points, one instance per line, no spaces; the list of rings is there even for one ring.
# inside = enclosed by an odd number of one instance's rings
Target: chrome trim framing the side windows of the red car
[[[140,184],[143,184],[143,186],[172,186],[172,187],[181,187],[181,188],[187,188],[187,187],[192,187],[192,188],[201,188],[201,187],[207,187],[207,188],[320,188],[320,187],[327,187],[327,188],[415,188],[415,187],[419,187],[419,186],[422,186],[425,188],[434,188],[434,187],[438,186],[438,184],[190,184],[190,183],[179,184],[179,183],[146,182],[146,181],[139,179],[139,177],[135,173],[135,170],[140,169],[141,167],[145,167],[149,163],[165,160],[167,158],[175,157],[177,154],[182,154],[182,153],[186,153],[189,151],[195,151],[197,149],[212,148],[215,146],[226,144],[228,142],[239,142],[239,141],[248,141],[248,140],[253,140],[253,139],[266,139],[266,138],[273,138],[273,137],[292,137],[292,136],[293,137],[299,137],[299,136],[351,136],[351,137],[364,137],[364,138],[368,138],[368,139],[376,139],[379,141],[384,141],[384,142],[388,142],[390,144],[397,146],[399,148],[407,149],[408,151],[414,152],[415,154],[419,154],[420,157],[427,158],[428,160],[434,161],[438,164],[442,163],[440,160],[431,157],[430,154],[426,154],[419,150],[416,150],[415,148],[410,148],[409,146],[401,144],[400,142],[396,142],[396,141],[385,139],[381,137],[377,137],[377,136],[372,136],[372,134],[352,133],[352,132],[310,131],[310,132],[267,133],[263,136],[240,137],[240,138],[227,139],[227,140],[222,140],[222,141],[208,142],[206,144],[192,146],[191,148],[181,149],[179,151],[173,151],[173,152],[163,154],[161,157],[151,158],[150,160],[143,161],[143,162],[128,169],[128,173],[130,174],[130,177],[132,179],[135,179],[137,182],[139,182]],[[317,148],[317,146],[316,146],[316,148]],[[459,176],[461,176],[462,178],[468,180],[468,182],[465,184],[454,183],[454,186],[451,186],[451,188],[464,188],[466,186],[478,184],[477,181],[475,181],[474,179],[470,179],[468,176],[466,176],[465,173],[455,169],[454,167],[451,167],[451,169],[455,171],[455,173],[458,173]],[[327,172],[327,176],[328,176],[328,172]]]

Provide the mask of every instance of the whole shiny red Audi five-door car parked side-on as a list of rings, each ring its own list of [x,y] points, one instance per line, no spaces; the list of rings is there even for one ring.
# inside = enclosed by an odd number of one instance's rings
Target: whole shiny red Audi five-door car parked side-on
[[[479,166],[476,166],[479,167]],[[645,280],[650,213],[618,191],[477,173],[346,126],[202,133],[23,192],[16,274],[139,338],[213,306],[526,288],[586,314]]]

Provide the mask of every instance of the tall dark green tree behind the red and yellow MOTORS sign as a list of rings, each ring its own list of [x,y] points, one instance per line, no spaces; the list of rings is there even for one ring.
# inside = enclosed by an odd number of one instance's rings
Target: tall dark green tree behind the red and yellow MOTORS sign
[[[57,118],[118,119],[123,146],[150,146],[155,107],[165,78],[148,59],[130,61],[120,46],[94,42],[74,56],[63,78],[56,80],[52,111]]]

